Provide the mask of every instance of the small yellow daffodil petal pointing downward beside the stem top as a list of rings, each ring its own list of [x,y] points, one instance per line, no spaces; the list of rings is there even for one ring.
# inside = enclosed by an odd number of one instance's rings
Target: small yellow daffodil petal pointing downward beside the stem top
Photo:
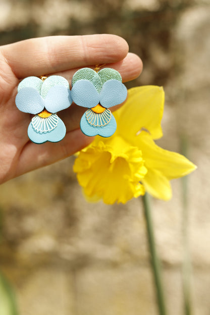
[[[169,180],[157,170],[149,169],[142,179],[145,190],[155,198],[170,200],[172,197]]]

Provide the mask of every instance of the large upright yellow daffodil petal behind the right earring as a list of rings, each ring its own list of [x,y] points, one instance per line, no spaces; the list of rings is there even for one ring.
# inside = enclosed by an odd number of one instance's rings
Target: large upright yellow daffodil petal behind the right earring
[[[133,139],[141,130],[147,130],[153,139],[161,138],[164,98],[164,90],[159,86],[129,89],[125,104],[114,114],[118,124],[117,132],[128,140]]]

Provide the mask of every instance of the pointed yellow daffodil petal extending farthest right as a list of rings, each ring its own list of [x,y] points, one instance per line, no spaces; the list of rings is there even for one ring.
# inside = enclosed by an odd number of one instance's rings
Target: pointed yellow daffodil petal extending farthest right
[[[156,145],[146,132],[136,137],[135,142],[142,150],[146,167],[160,171],[169,180],[185,176],[196,169],[185,156]]]

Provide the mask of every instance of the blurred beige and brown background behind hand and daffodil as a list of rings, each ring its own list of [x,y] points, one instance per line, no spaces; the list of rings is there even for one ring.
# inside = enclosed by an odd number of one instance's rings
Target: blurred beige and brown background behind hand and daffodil
[[[187,212],[182,180],[172,182],[171,201],[152,200],[169,315],[187,314],[186,253],[191,314],[210,313],[209,16],[209,0],[0,0],[1,45],[47,35],[117,34],[144,63],[127,87],[164,86],[158,144],[183,152],[185,143],[198,166],[187,177]],[[73,163],[70,157],[0,187],[0,270],[14,288],[19,314],[158,314],[141,199],[87,203]],[[1,280],[1,305],[6,288]],[[15,314],[13,305],[1,313]]]

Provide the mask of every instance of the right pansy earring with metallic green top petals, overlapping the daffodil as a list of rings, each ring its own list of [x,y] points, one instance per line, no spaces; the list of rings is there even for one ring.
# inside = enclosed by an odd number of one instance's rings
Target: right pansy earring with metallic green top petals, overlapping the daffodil
[[[71,95],[78,106],[88,108],[80,121],[82,132],[87,136],[110,137],[117,123],[109,108],[126,100],[127,89],[118,71],[98,70],[97,66],[95,70],[78,70],[72,78]]]

